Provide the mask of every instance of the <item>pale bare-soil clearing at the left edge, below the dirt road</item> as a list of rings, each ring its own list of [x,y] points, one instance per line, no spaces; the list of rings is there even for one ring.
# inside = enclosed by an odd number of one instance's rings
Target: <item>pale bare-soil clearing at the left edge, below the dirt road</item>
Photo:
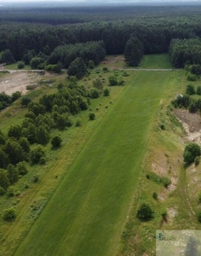
[[[36,84],[40,74],[35,72],[11,72],[0,78],[0,92],[12,95],[15,91],[26,94],[26,86]]]

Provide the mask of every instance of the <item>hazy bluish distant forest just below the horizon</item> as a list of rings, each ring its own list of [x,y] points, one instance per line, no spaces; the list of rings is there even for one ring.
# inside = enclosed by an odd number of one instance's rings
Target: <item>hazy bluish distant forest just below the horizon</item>
[[[60,3],[61,5],[61,3]],[[40,7],[1,8],[1,22],[27,22],[50,25],[80,24],[89,21],[135,20],[151,24],[155,20],[199,19],[200,6],[94,6],[94,7]]]

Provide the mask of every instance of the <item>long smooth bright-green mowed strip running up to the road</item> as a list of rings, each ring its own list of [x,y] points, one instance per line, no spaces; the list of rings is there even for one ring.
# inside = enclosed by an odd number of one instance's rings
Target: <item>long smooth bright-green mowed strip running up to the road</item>
[[[171,77],[136,72],[14,255],[115,253],[152,120]]]

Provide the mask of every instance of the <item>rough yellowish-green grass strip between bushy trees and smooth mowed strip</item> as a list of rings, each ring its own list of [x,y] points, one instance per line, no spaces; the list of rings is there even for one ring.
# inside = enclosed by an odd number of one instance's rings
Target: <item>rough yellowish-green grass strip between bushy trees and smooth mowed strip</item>
[[[129,81],[132,79],[132,77],[133,75],[129,77]],[[3,234],[3,239],[0,242],[0,255],[13,255],[16,247],[18,247],[20,241],[23,241],[34,222],[33,218],[36,216],[37,212],[32,212],[33,205],[36,205],[37,202],[37,205],[39,203],[41,206],[41,201],[49,201],[49,198],[51,198],[51,196],[55,193],[58,183],[60,183],[60,180],[63,179],[62,177],[64,177],[65,172],[68,169],[66,167],[64,168],[64,166],[72,166],[72,162],[82,150],[83,145],[89,140],[89,137],[95,131],[95,128],[97,125],[99,125],[101,119],[104,118],[106,113],[111,108],[112,104],[110,102],[115,102],[121,90],[124,89],[125,87],[112,87],[112,96],[100,98],[99,103],[92,102],[91,108],[95,108],[97,104],[99,107],[100,103],[103,105],[102,108],[99,108],[99,111],[95,113],[95,121],[90,122],[87,119],[88,112],[82,113],[84,116],[83,125],[63,132],[64,134],[62,134],[62,137],[64,141],[58,152],[55,154],[55,150],[49,149],[49,161],[47,164],[44,166],[35,166],[35,171],[40,177],[40,182],[36,184],[34,189],[27,189],[25,191],[25,196],[20,199],[20,208],[17,209],[18,218],[14,221],[14,223],[1,225],[0,237],[2,237]],[[106,105],[110,106],[105,108]],[[28,173],[28,175],[29,174],[30,173]],[[55,179],[55,175],[57,175],[58,178]],[[29,180],[29,177],[27,176],[26,178]],[[10,202],[8,201],[7,203],[9,207]]]

